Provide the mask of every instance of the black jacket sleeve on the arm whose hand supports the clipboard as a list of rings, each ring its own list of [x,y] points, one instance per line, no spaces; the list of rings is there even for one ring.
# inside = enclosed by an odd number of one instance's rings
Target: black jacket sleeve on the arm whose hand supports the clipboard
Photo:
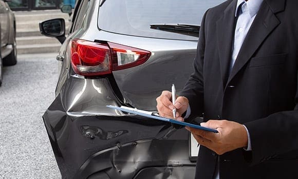
[[[250,133],[252,165],[272,158],[297,159],[298,91],[295,101],[292,111],[281,111],[245,124]]]

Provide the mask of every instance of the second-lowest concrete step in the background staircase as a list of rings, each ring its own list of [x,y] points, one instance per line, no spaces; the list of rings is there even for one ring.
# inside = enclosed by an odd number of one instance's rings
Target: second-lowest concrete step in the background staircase
[[[29,37],[16,37],[16,44],[23,46],[27,44],[44,44],[44,43],[60,44],[57,38],[46,36],[29,36]]]

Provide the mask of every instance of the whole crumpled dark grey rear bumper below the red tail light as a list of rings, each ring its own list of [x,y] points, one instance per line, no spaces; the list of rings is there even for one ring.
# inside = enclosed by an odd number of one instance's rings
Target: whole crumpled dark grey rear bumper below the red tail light
[[[62,178],[193,178],[188,132],[106,107],[120,104],[108,78],[64,84],[43,116]]]

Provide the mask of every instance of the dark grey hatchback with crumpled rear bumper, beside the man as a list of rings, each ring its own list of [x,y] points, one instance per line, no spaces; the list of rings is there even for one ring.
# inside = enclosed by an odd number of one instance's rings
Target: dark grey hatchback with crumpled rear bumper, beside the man
[[[198,149],[187,130],[107,105],[155,111],[163,90],[175,84],[179,94],[203,13],[221,2],[78,0],[67,37],[64,19],[40,23],[62,43],[43,115],[62,178],[194,178]]]

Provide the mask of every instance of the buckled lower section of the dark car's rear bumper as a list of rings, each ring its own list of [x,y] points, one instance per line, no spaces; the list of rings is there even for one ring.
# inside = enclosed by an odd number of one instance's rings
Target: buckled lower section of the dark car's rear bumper
[[[74,178],[194,178],[187,145],[185,140],[158,139],[119,144],[90,156]]]

